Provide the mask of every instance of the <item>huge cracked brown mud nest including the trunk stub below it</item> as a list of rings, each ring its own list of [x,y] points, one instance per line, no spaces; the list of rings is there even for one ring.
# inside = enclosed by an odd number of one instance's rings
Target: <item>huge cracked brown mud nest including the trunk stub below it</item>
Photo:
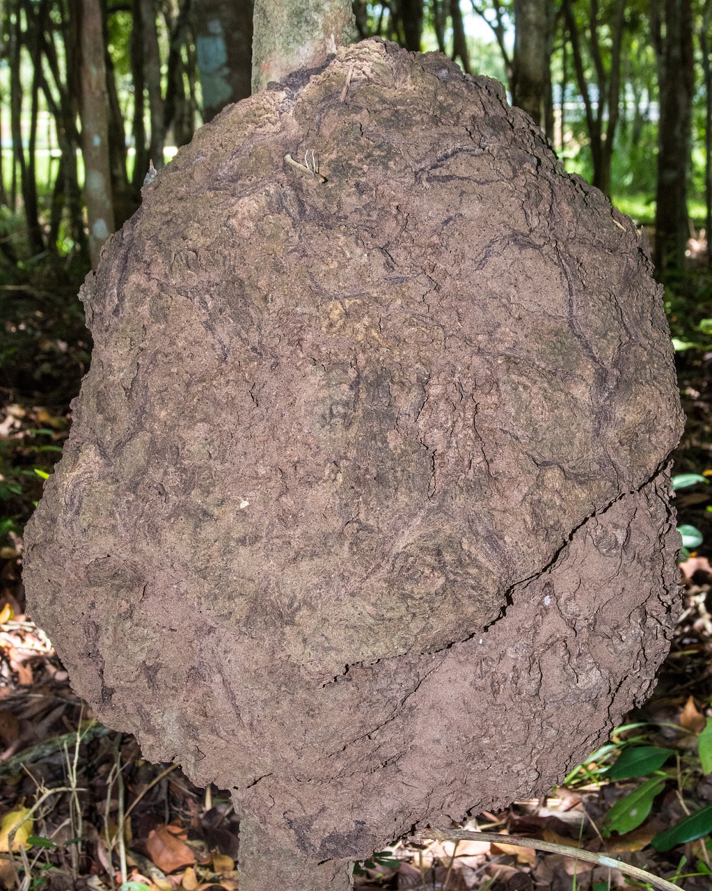
[[[322,176],[285,159],[312,150]],[[81,297],[29,602],[102,721],[233,790],[241,891],[348,887],[548,789],[650,691],[659,288],[499,84],[341,49],[204,127]]]

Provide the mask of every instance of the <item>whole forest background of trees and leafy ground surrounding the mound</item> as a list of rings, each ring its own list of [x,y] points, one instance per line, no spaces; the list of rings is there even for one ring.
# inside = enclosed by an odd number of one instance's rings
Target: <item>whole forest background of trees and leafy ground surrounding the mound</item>
[[[642,227],[688,415],[674,478],[683,614],[655,697],[549,797],[480,815],[479,828],[585,846],[678,887],[709,888],[712,0],[356,0],[354,12],[355,38],[439,50],[501,80],[569,172]],[[90,361],[78,287],[139,207],[151,168],[250,94],[251,41],[250,0],[0,0],[6,888],[237,891],[229,800],[195,789],[175,765],[143,762],[133,738],[94,722],[25,615],[21,560],[24,524],[61,455]],[[483,842],[401,841],[358,873],[361,885],[423,891],[626,882],[610,867]]]

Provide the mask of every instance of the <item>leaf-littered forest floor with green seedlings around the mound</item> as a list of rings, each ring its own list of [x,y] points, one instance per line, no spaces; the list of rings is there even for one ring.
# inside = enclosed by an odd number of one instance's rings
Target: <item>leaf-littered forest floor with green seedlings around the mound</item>
[[[15,287],[0,282],[11,295]],[[227,793],[194,787],[176,765],[149,764],[133,737],[97,723],[71,691],[51,642],[25,615],[21,527],[61,453],[69,399],[89,356],[78,307],[68,298],[75,285],[33,289],[21,290],[12,308],[11,301],[0,306],[0,884],[17,891],[237,891],[239,821]],[[548,796],[479,814],[465,826],[580,846],[688,891],[712,887],[706,350],[695,344],[678,355],[688,425],[675,473],[694,474],[698,483],[678,492],[677,508],[704,540],[683,564],[683,613],[653,697]],[[646,753],[648,762],[627,774],[618,769],[618,779],[610,770]],[[651,846],[691,813],[699,817],[686,833],[691,840],[678,831],[667,849]],[[630,884],[618,869],[504,841],[403,839],[356,869],[359,888],[603,891]]]

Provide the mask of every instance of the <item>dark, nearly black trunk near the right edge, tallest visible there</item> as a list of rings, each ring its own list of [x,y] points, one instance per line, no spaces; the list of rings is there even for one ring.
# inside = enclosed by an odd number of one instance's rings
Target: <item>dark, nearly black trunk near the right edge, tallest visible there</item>
[[[658,50],[659,134],[655,209],[655,265],[661,278],[684,268],[688,239],[687,176],[690,168],[694,53],[691,0],[662,0],[662,22],[653,11]]]

